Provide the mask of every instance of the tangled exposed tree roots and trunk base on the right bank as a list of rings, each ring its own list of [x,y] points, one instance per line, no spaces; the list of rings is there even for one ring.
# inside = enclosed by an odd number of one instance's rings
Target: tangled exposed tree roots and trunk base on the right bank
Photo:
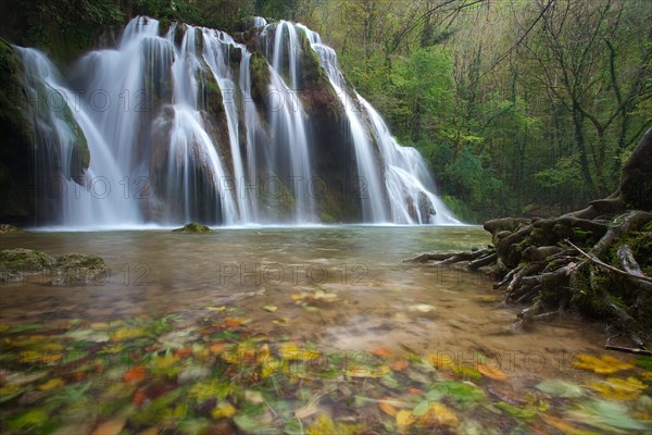
[[[603,319],[636,344],[614,350],[644,353],[652,345],[652,277],[645,274],[652,268],[651,211],[652,129],[609,198],[560,217],[487,221],[489,248],[424,253],[405,262],[466,262],[471,271],[489,271],[497,279],[493,287],[504,288],[505,302],[527,306],[518,325],[573,309]]]

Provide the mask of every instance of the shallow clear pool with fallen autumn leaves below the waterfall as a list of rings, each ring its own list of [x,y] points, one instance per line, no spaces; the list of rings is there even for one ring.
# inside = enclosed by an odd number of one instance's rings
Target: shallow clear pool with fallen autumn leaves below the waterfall
[[[505,306],[485,275],[402,263],[482,248],[490,238],[481,227],[32,232],[0,241],[54,257],[99,254],[109,265],[90,285],[50,287],[41,274],[0,287],[9,431],[50,424],[38,414],[27,421],[35,409],[61,411],[52,431],[80,433],[103,424],[193,433],[190,423],[208,433],[650,428],[645,365],[611,353],[622,370],[610,376],[641,383],[626,386],[634,393],[623,400],[609,394],[617,382],[577,363],[592,356],[610,365],[600,359],[609,353],[600,324],[567,315],[516,328],[519,308]],[[116,364],[123,353],[128,363]],[[229,393],[192,396],[215,377],[233,381]],[[49,388],[52,380],[60,382]],[[106,380],[124,385],[115,397]],[[87,401],[52,405],[52,395],[86,384]],[[179,398],[165,402],[174,394],[192,399],[177,409]],[[92,408],[90,417],[79,419],[75,407]],[[591,423],[605,412],[625,420]]]

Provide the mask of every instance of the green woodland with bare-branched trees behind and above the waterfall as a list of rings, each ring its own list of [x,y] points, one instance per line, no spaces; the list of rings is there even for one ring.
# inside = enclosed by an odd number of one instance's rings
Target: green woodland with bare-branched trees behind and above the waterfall
[[[61,61],[148,14],[237,30],[305,24],[463,221],[603,198],[652,126],[651,10],[639,0],[21,0],[7,36]],[[28,30],[25,30],[28,29]]]

